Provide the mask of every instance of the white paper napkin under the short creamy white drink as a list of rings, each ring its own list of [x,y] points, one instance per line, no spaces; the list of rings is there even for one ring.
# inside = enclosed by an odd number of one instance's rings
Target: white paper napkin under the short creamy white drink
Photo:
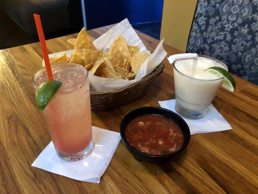
[[[175,99],[158,102],[162,108],[177,113],[175,110]],[[228,121],[226,121],[226,119],[217,111],[217,109],[212,104],[209,106],[207,114],[201,119],[193,120],[184,117],[182,118],[189,126],[191,135],[197,133],[211,133],[232,129]]]

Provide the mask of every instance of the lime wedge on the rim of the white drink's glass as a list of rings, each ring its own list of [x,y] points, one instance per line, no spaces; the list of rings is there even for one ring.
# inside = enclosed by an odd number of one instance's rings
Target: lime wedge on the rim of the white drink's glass
[[[234,92],[236,89],[236,82],[233,78],[233,76],[228,73],[225,69],[221,67],[210,67],[209,69],[206,69],[209,73],[212,73],[213,75],[217,75],[218,77],[224,77],[222,87],[228,89],[231,92]]]

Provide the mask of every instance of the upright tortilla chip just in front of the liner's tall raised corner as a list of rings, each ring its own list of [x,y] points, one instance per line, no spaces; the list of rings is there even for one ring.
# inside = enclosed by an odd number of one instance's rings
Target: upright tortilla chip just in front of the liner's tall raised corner
[[[123,36],[118,36],[117,39],[113,42],[111,45],[108,53],[113,54],[117,50],[119,50],[122,58],[129,58],[130,57],[130,52],[129,49],[127,48],[126,42],[123,38]]]

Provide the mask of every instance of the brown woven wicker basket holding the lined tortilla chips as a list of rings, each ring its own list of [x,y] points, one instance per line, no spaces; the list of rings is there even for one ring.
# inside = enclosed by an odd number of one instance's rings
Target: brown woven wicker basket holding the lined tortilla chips
[[[162,73],[163,69],[164,64],[161,62],[150,75],[145,76],[132,85],[105,92],[91,92],[91,109],[105,110],[140,98],[147,91],[154,78]]]

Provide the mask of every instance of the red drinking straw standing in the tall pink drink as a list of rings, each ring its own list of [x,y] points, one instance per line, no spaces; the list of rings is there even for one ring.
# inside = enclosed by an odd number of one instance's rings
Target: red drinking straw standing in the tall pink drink
[[[37,14],[33,14],[33,16],[34,16],[34,20],[35,20],[38,35],[39,35],[39,41],[40,41],[40,46],[41,46],[41,50],[42,50],[42,54],[43,54],[43,58],[44,58],[45,66],[46,66],[46,73],[47,73],[48,81],[52,81],[53,75],[52,75],[52,70],[51,70],[48,53],[47,53],[47,49],[46,49],[46,40],[45,40],[40,16]]]

